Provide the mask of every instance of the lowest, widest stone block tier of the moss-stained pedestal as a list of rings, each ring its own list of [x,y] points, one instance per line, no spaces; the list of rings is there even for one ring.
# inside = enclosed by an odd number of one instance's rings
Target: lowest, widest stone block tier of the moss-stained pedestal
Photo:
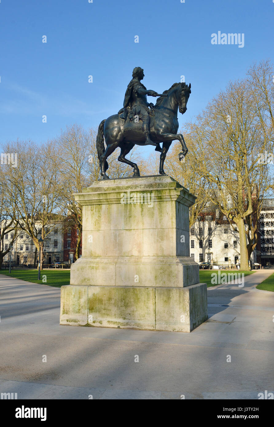
[[[62,286],[60,325],[191,332],[207,320],[207,285]]]

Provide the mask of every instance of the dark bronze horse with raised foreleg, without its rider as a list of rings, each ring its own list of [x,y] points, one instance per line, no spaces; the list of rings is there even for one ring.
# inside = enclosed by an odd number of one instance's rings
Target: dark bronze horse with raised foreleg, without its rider
[[[163,170],[163,164],[166,158],[166,153],[174,140],[179,140],[182,145],[182,152],[179,153],[181,161],[188,152],[184,137],[182,134],[177,134],[178,123],[178,107],[181,114],[187,111],[187,101],[191,94],[191,84],[174,83],[171,88],[164,91],[163,94],[157,95],[159,98],[156,101],[150,114],[150,138],[155,143],[156,151],[160,151],[160,175],[166,175]],[[136,119],[135,119],[136,120]],[[120,117],[119,114],[114,114],[108,119],[102,120],[99,124],[98,134],[96,138],[96,149],[100,162],[100,173],[102,179],[109,179],[106,175],[108,170],[107,158],[117,147],[120,147],[121,153],[118,160],[122,163],[129,164],[134,169],[133,177],[140,176],[140,171],[136,163],[133,163],[125,158],[135,144],[144,146],[146,137],[143,135],[142,126],[137,122],[127,122]],[[104,137],[106,149],[104,145]],[[160,143],[163,143],[162,149]]]

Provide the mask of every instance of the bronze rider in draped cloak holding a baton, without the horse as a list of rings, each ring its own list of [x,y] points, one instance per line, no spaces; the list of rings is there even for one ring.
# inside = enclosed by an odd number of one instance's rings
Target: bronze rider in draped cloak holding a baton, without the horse
[[[153,104],[152,102],[147,102],[146,95],[157,97],[158,94],[154,91],[148,91],[143,83],[140,82],[143,80],[144,76],[143,68],[134,68],[132,73],[133,79],[129,82],[125,92],[124,108],[121,108],[118,114],[122,113],[120,117],[126,119],[127,108],[131,108],[129,118],[132,119],[137,115],[138,118],[143,121],[142,131],[146,137],[145,145],[157,146],[149,137],[149,107],[152,108]]]

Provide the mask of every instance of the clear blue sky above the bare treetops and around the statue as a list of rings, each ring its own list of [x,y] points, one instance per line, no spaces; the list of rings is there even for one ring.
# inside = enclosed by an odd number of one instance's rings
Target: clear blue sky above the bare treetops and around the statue
[[[136,66],[158,93],[191,82],[181,128],[254,60],[274,61],[273,23],[272,0],[0,0],[0,143],[97,127],[122,107]],[[244,33],[244,47],[212,45],[218,31]]]

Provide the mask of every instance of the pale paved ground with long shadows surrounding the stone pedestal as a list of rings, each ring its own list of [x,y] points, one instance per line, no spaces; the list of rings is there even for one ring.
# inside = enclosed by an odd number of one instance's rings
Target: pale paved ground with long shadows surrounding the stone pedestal
[[[209,319],[191,333],[60,326],[59,288],[1,275],[0,392],[18,399],[257,399],[273,392],[274,292],[256,289],[273,272],[254,272],[244,287],[208,288]]]

